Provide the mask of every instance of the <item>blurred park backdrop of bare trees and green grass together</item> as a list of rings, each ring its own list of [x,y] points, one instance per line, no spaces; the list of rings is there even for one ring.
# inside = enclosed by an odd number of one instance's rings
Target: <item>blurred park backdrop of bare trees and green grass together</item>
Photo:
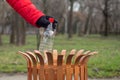
[[[100,54],[90,62],[89,76],[120,76],[120,0],[32,2],[46,15],[58,20],[56,49],[97,50]],[[38,31],[38,28],[24,21],[5,0],[0,0],[0,72],[25,71],[25,63],[20,61],[22,58],[13,54],[18,50],[37,49]],[[6,59],[5,56],[9,58]],[[6,66],[4,62],[12,66]],[[14,65],[18,65],[17,69]]]

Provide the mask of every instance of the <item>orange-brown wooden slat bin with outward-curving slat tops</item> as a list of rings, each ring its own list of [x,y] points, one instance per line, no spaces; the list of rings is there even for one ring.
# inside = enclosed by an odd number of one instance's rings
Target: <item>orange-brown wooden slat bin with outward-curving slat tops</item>
[[[52,53],[18,52],[27,60],[28,80],[88,80],[88,58],[96,52],[72,50],[69,54],[62,50]],[[44,54],[44,55],[43,55]]]

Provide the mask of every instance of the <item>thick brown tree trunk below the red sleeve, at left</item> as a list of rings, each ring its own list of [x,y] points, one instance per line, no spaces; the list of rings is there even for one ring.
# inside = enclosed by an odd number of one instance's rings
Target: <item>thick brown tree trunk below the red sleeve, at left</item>
[[[11,34],[10,34],[10,44],[15,45],[25,45],[26,34],[25,34],[25,23],[24,20],[13,11],[11,16]]]

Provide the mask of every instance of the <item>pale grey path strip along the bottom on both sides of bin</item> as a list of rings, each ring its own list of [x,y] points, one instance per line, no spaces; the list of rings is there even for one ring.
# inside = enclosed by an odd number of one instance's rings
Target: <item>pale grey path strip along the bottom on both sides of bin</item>
[[[26,73],[3,74],[0,73],[0,80],[27,80]],[[110,79],[88,79],[88,80],[120,80],[120,78]]]

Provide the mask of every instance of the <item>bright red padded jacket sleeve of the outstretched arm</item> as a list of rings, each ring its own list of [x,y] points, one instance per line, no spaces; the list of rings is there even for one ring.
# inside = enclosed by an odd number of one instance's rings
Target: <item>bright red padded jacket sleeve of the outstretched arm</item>
[[[36,26],[36,21],[44,15],[30,0],[6,0],[27,22]]]

